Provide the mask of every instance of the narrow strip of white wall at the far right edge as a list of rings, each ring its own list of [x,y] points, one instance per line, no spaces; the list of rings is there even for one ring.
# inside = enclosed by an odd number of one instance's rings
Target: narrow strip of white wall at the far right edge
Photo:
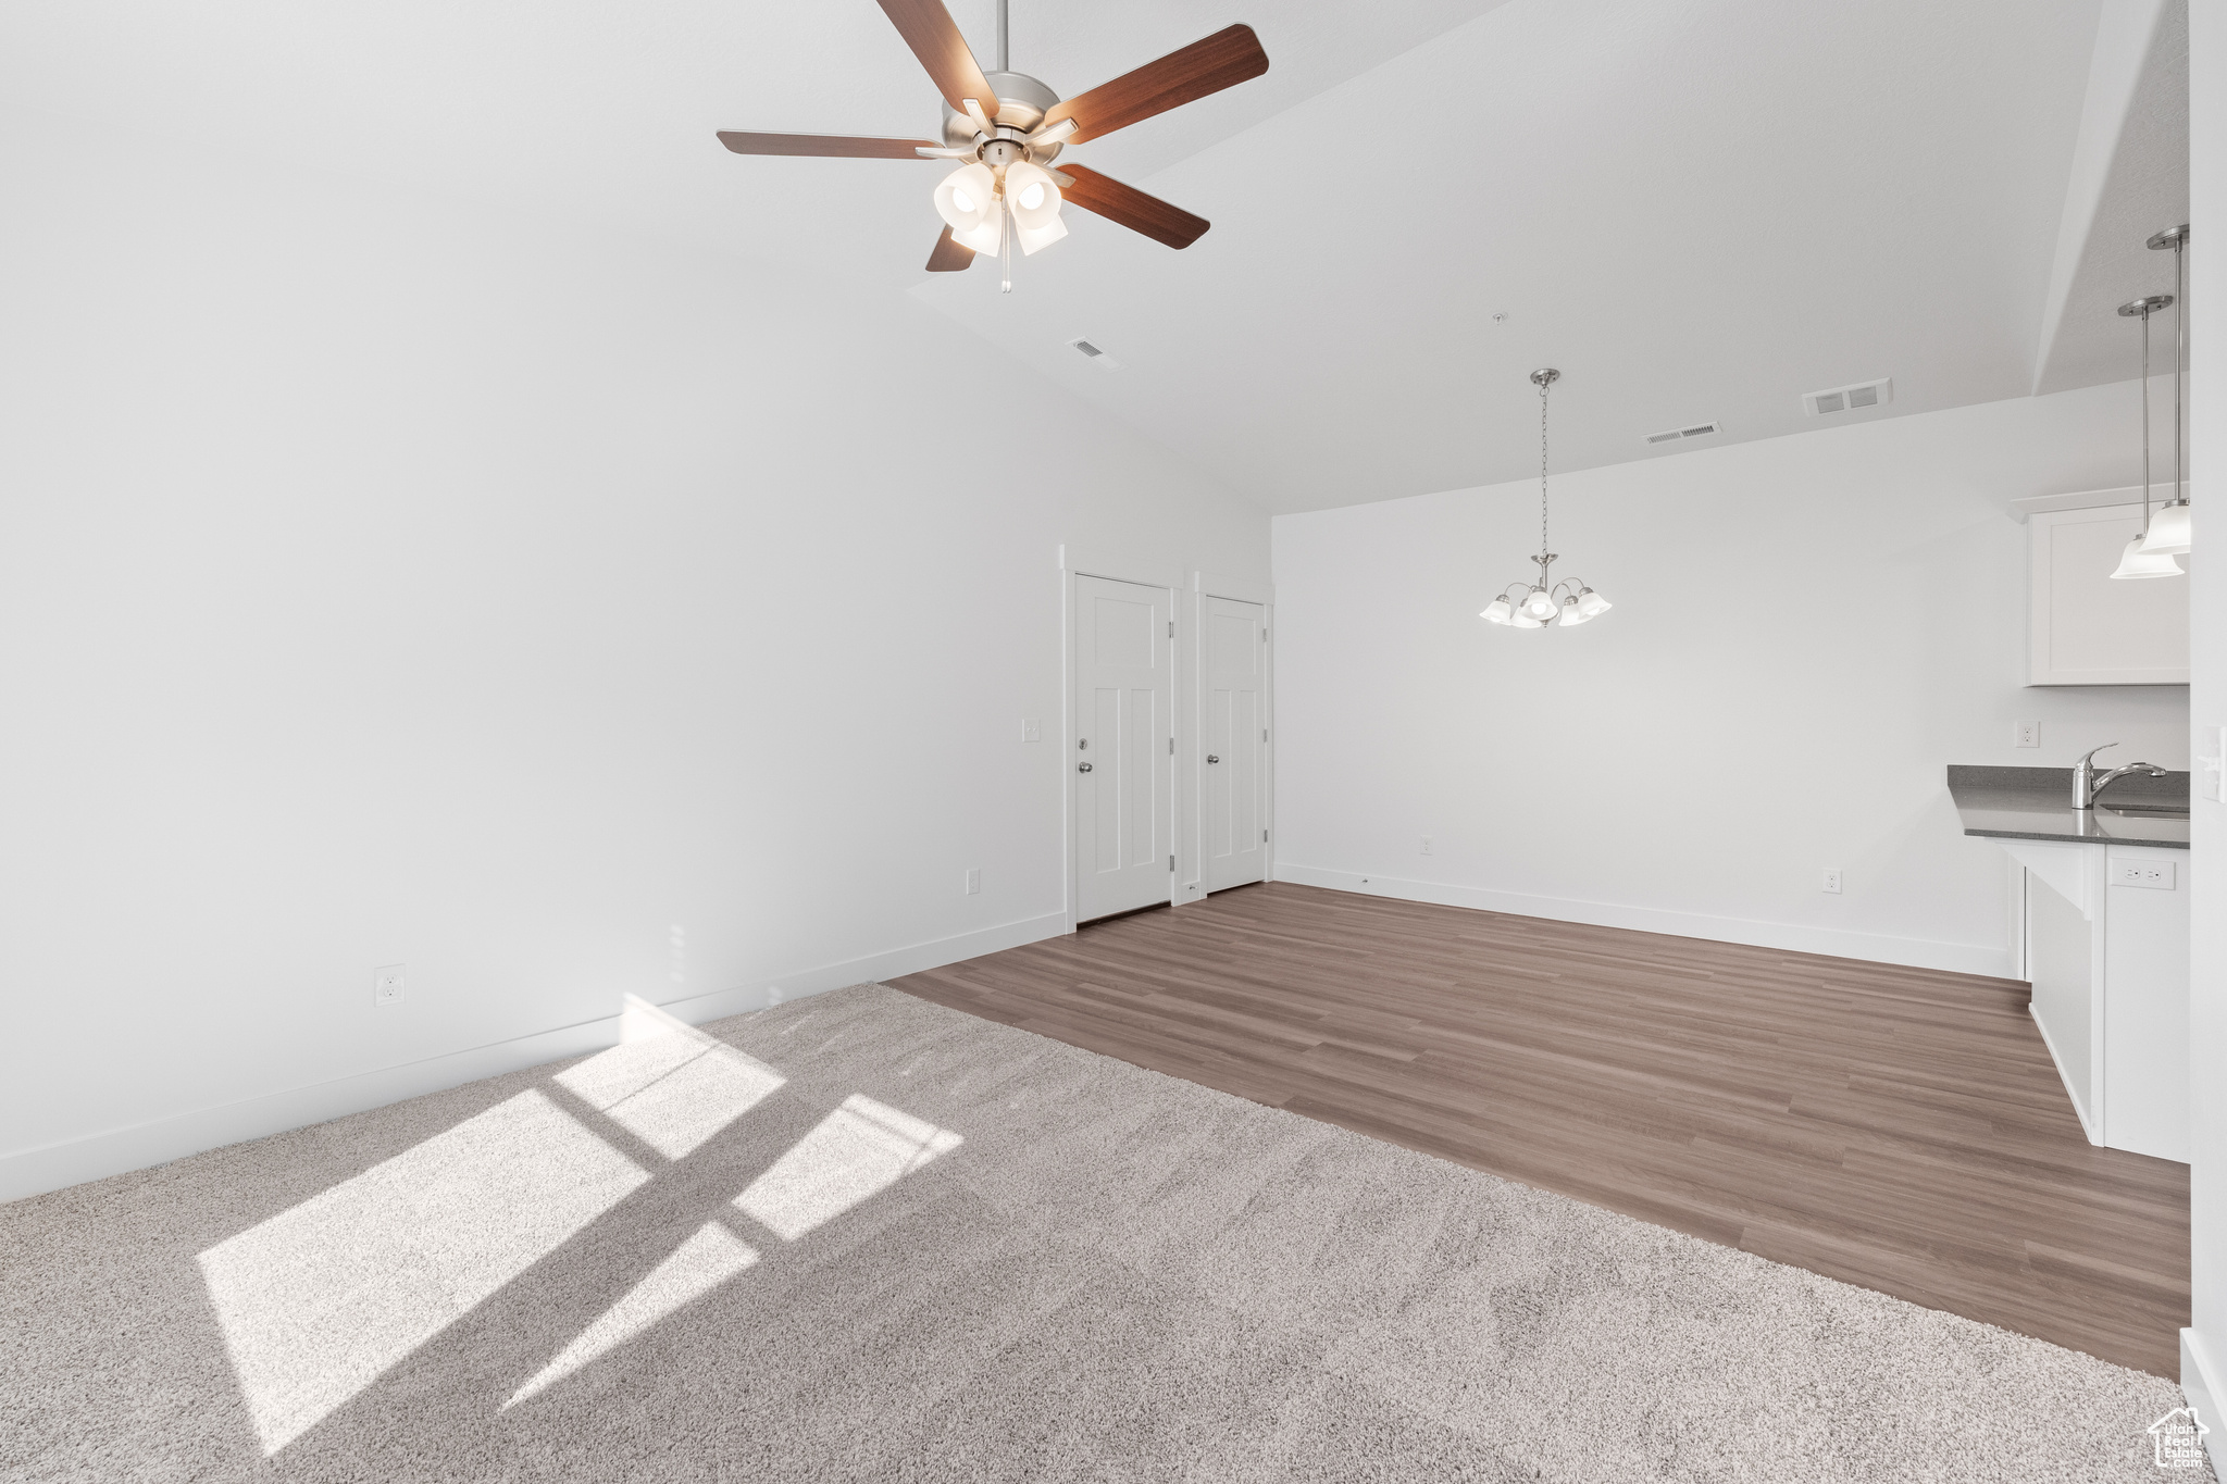
[[[2205,561],[2189,563],[2191,721],[2227,725],[2227,0],[2189,0],[2189,509]],[[2194,556],[2194,552],[2191,552]],[[2214,752],[2205,741],[2200,752]],[[2227,1477],[2227,805],[2198,801],[2189,870],[2189,1250],[2194,1328],[2180,1384],[2211,1426]]]

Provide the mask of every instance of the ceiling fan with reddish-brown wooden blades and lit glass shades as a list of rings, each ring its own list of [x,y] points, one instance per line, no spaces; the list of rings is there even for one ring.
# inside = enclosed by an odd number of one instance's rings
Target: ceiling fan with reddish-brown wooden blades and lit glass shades
[[[1062,100],[1049,85],[1007,65],[1004,4],[998,0],[998,69],[984,73],[967,49],[942,0],[880,0],[904,44],[913,49],[944,96],[942,140],[891,140],[846,133],[733,133],[719,142],[735,154],[837,156],[866,160],[964,160],[935,187],[944,234],[929,254],[931,274],[973,265],[975,254],[998,254],[1002,287],[1013,289],[1013,245],[1033,254],[1067,236],[1060,202],[1142,231],[1169,247],[1189,247],[1207,231],[1191,216],[1156,196],[1082,165],[1053,169],[1067,145],[1102,138],[1154,113],[1236,87],[1267,71],[1267,53],[1252,27],[1227,27],[1171,51],[1158,62]]]

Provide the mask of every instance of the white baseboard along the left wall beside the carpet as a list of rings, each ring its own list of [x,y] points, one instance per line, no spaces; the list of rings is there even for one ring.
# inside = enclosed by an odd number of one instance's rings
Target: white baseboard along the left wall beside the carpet
[[[931,943],[913,943],[889,952],[828,963],[797,975],[782,975],[766,983],[753,983],[715,995],[695,995],[661,1006],[668,1015],[699,1026],[746,1010],[762,1010],[784,999],[802,999],[824,990],[840,990],[866,979],[895,979],[918,975],[924,968],[975,959],[1004,948],[1020,948],[1038,939],[1067,932],[1067,917],[1051,912],[1029,917],[1018,923],[980,928]],[[263,1139],[290,1128],[323,1124],[350,1112],[383,1108],[408,1097],[423,1097],[481,1077],[499,1077],[546,1061],[583,1057],[606,1046],[619,1043],[619,1010],[577,1026],[539,1030],[508,1041],[472,1046],[465,1050],[383,1066],[352,1077],[336,1077],[283,1092],[265,1092],[216,1108],[194,1108],[127,1128],[111,1128],[98,1135],[62,1139],[38,1148],[0,1155],[0,1201],[60,1190],[87,1179],[105,1179],[125,1170],[145,1170],[151,1164],[167,1164],[200,1150]]]

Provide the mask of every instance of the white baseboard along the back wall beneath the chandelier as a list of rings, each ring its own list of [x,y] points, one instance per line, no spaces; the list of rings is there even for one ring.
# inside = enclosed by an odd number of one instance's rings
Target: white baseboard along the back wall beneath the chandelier
[[[1766,923],[1746,917],[1708,917],[1706,912],[1670,912],[1664,908],[1621,908],[1608,901],[1574,901],[1566,897],[1532,897],[1528,892],[1497,892],[1479,886],[1443,886],[1436,881],[1365,877],[1354,870],[1323,870],[1318,865],[1292,865],[1289,861],[1276,861],[1276,881],[1325,886],[1334,892],[1361,892],[1365,897],[1430,901],[1443,908],[1479,908],[1483,912],[1546,917],[1559,923],[1668,932],[1672,937],[1710,939],[1717,943],[1748,943],[1750,948],[1779,948],[1784,952],[1817,952],[1833,959],[1868,959],[1871,963],[1909,963],[1911,968],[1940,968],[1953,975],[1991,975],[1995,979],[2011,977],[2011,950],[1986,948],[1982,943],[1935,943],[1931,939],[1904,939],[1884,932],[1802,928],[1795,923]]]

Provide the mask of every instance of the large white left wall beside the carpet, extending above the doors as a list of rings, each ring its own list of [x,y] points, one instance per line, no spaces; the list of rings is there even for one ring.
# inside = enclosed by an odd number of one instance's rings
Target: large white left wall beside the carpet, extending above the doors
[[[31,113],[0,198],[0,1195],[1056,932],[1060,543],[1265,585],[897,291]]]

